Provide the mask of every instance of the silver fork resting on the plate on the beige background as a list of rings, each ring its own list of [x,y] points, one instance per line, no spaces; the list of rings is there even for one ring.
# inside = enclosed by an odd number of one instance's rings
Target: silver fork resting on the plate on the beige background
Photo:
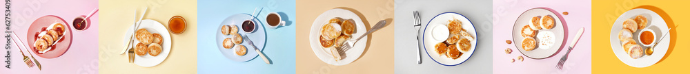
[[[371,32],[374,32],[378,29],[381,29],[385,25],[386,25],[386,20],[379,21],[379,23],[376,23],[376,25],[374,25],[374,27],[371,27],[371,29],[369,29],[369,31],[362,34],[362,36],[359,36],[359,38],[357,38],[355,40],[347,40],[347,42],[343,43],[343,45],[340,45],[341,47],[337,47],[336,49],[338,49],[338,52],[347,51],[347,50],[351,49],[352,47],[355,47],[355,43],[357,43],[357,41],[359,41],[359,39],[362,39],[364,36],[371,34]]]

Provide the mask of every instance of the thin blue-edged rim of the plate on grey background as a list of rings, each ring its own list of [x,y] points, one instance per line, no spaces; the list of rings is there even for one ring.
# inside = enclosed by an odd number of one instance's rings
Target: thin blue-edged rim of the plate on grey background
[[[472,23],[472,21],[469,20],[469,18],[467,18],[467,16],[464,16],[464,15],[462,15],[462,14],[460,14],[460,13],[457,13],[457,12],[442,12],[441,14],[458,14],[458,15],[460,15],[460,16],[463,16],[464,18],[467,19],[467,21],[469,21],[469,22],[471,23],[472,28],[475,28],[475,34],[476,34],[475,36],[477,36],[477,37],[475,37],[475,41],[476,41],[477,43],[473,46],[474,49],[472,49],[472,53],[470,54],[470,56],[467,57],[467,60],[469,60],[470,58],[472,58],[472,55],[474,54],[474,51],[477,49],[477,45],[480,43],[479,38],[478,38],[479,34],[477,34],[477,29],[476,29],[477,27],[475,27],[474,23]],[[436,18],[437,16],[440,16],[441,14],[437,14],[436,16],[433,16],[433,18],[431,18],[431,20],[429,20],[429,21],[426,23],[426,25],[424,26],[424,32],[426,32],[426,27],[428,27],[429,23],[431,23],[431,21],[433,21],[434,18]],[[424,34],[424,32],[422,32],[422,38],[424,38],[424,36],[426,35],[426,34]],[[426,43],[424,42],[424,39],[422,39],[422,47],[424,47],[424,52],[426,52],[426,56],[428,56],[429,58],[431,58],[431,55],[429,54],[428,50],[426,49]],[[441,64],[441,65],[443,65],[443,66],[457,66],[457,65],[462,64],[462,63],[464,63],[464,62],[467,62],[467,60],[464,60],[464,61],[462,61],[462,62],[460,62],[460,63],[457,63],[457,64],[442,64],[441,62],[438,62],[438,61],[436,61],[436,60],[433,59],[433,58],[431,58],[431,60],[433,60],[434,62],[436,62],[436,63],[438,63],[438,64]]]

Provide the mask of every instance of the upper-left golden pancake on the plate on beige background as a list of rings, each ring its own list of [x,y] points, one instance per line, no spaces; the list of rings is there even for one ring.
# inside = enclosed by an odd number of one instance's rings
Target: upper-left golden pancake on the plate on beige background
[[[324,38],[331,40],[333,38],[337,38],[340,36],[342,28],[340,27],[339,24],[337,23],[328,23],[321,27],[321,35],[324,36]]]

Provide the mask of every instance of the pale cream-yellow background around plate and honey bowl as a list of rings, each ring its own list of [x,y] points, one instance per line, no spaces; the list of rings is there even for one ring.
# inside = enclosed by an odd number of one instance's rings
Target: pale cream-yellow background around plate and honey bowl
[[[158,21],[168,27],[172,16],[182,16],[187,22],[183,34],[170,34],[172,49],[165,61],[157,66],[143,67],[128,63],[124,48],[124,34],[144,8],[144,19]],[[99,1],[99,73],[197,73],[197,1],[196,0],[101,0]],[[170,42],[168,42],[170,43]]]

